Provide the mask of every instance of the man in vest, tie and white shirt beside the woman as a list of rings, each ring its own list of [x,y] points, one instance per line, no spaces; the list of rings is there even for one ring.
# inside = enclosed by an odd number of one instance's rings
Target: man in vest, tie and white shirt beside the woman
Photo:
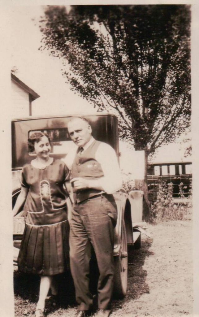
[[[74,279],[78,311],[85,317],[93,303],[89,291],[91,246],[100,272],[98,280],[98,311],[96,317],[108,317],[114,276],[114,227],[117,206],[112,193],[122,186],[115,151],[95,140],[89,122],[73,117],[68,133],[78,150],[71,169],[74,206],[70,221],[70,267]]]

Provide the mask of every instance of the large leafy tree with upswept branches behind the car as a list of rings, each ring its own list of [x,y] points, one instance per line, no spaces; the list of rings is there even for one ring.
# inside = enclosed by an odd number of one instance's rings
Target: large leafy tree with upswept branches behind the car
[[[40,27],[72,89],[118,115],[120,137],[144,150],[148,204],[148,155],[190,124],[189,6],[50,6]]]

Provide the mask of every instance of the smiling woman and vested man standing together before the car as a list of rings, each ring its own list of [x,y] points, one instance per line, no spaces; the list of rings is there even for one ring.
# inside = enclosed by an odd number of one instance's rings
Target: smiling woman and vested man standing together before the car
[[[78,308],[75,316],[85,317],[93,303],[89,291],[91,246],[100,272],[96,317],[108,317],[112,298],[114,261],[113,230],[117,206],[112,193],[122,186],[115,151],[92,137],[89,122],[73,117],[68,133],[78,146],[71,172],[63,161],[49,157],[50,139],[41,132],[28,139],[29,151],[36,159],[24,165],[22,190],[13,209],[14,216],[24,205],[25,229],[18,256],[22,272],[41,277],[35,316],[44,316],[49,289],[58,293],[54,275],[69,268],[75,285]],[[73,188],[70,233],[67,221],[66,189]],[[68,245],[69,243],[69,245]]]

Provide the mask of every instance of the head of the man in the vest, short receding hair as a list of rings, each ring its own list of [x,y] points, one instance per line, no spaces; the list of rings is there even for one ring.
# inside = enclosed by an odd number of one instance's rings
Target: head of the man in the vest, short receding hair
[[[68,123],[68,133],[79,147],[84,147],[88,143],[91,139],[91,132],[91,126],[80,118],[73,119]]]

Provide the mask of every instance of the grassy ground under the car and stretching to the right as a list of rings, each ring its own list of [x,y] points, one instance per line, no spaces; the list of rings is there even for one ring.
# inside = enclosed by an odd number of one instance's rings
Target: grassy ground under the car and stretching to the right
[[[128,290],[123,300],[113,300],[113,317],[192,316],[192,222],[170,221],[149,225],[142,248],[129,249]],[[73,316],[76,303],[69,274],[60,276],[60,303],[46,301],[48,317]],[[39,279],[14,272],[15,316],[34,316]]]

